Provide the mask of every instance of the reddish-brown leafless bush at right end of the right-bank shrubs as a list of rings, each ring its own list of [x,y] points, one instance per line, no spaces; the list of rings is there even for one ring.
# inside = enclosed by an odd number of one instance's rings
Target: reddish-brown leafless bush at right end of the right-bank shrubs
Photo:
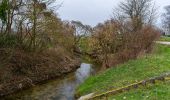
[[[122,50],[116,54],[116,63],[124,62],[129,59],[136,59],[142,54],[150,53],[154,41],[158,36],[159,31],[156,31],[150,26],[145,26],[136,33],[127,33],[122,39],[122,41],[124,41],[123,48],[121,48]]]

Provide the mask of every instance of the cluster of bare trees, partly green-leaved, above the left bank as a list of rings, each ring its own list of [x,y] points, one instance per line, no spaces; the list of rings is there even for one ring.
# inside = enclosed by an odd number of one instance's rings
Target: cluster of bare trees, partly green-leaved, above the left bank
[[[1,33],[15,35],[17,42],[27,44],[35,50],[40,43],[47,17],[53,14],[52,5],[56,0],[3,0],[0,4]],[[13,31],[14,30],[14,31]],[[6,36],[6,35],[5,35]],[[24,41],[24,42],[23,42]]]

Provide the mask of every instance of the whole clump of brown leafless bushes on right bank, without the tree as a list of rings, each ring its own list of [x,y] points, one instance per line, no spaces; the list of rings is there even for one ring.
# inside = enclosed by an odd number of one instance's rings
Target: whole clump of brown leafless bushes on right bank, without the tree
[[[109,20],[95,28],[90,41],[91,47],[104,67],[111,67],[151,52],[159,31],[150,25],[145,25],[138,31],[129,31],[127,27]]]

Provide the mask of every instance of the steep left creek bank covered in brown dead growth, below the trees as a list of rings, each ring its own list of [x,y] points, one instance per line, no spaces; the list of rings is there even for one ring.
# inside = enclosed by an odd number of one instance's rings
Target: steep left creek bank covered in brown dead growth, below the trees
[[[80,67],[79,57],[59,49],[41,53],[20,49],[0,51],[0,97],[55,79]]]

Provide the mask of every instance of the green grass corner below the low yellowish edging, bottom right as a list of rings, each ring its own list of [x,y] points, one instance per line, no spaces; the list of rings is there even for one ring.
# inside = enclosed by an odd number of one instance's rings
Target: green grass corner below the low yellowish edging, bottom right
[[[141,87],[112,97],[109,100],[170,100],[170,81]]]

